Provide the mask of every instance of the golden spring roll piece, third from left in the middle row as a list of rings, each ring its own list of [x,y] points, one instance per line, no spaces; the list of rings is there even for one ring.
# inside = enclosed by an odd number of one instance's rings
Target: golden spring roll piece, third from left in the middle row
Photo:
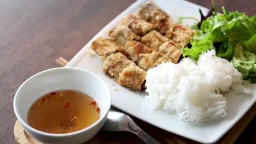
[[[159,50],[160,45],[165,43],[168,40],[169,39],[164,37],[164,35],[153,30],[141,38],[141,43],[146,44],[152,49]]]

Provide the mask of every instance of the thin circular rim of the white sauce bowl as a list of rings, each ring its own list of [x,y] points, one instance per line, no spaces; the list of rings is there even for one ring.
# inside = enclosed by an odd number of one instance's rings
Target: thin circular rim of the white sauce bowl
[[[26,83],[28,81],[31,81],[32,79],[34,79],[35,77],[38,77],[40,75],[43,75],[44,73],[51,73],[51,71],[56,71],[56,70],[74,70],[74,71],[83,71],[83,73],[87,73],[89,75],[92,75],[94,77],[96,77],[96,79],[100,80],[102,83],[104,83],[103,85],[105,85],[107,87],[107,91],[110,95],[110,103],[107,107],[107,111],[105,113],[102,113],[103,115],[100,116],[100,118],[93,124],[91,124],[89,127],[86,127],[86,128],[83,128],[83,129],[80,129],[78,131],[74,131],[74,132],[71,132],[71,133],[66,133],[66,134],[51,134],[51,133],[46,133],[44,131],[40,131],[40,130],[37,130],[35,128],[32,128],[30,125],[28,125],[20,116],[20,114],[18,113],[18,107],[16,107],[16,103],[17,103],[17,97],[21,91],[21,89],[26,85]],[[44,136],[51,136],[51,137],[65,137],[65,136],[72,136],[72,135],[77,135],[77,134],[81,134],[81,133],[84,133],[85,131],[88,131],[92,128],[94,128],[96,125],[100,124],[101,121],[103,121],[103,119],[108,115],[108,111],[110,110],[110,107],[111,107],[111,104],[112,104],[112,93],[110,91],[110,88],[109,86],[107,85],[106,82],[104,82],[99,76],[97,76],[95,73],[92,73],[91,71],[89,70],[85,70],[85,69],[81,69],[81,68],[72,68],[72,67],[60,67],[60,68],[52,68],[52,69],[47,69],[47,70],[43,70],[43,71],[40,71],[39,73],[37,74],[34,74],[32,75],[31,77],[29,77],[26,81],[24,81],[20,87],[18,88],[18,90],[16,91],[15,93],[15,96],[14,96],[14,101],[13,101],[13,108],[14,108],[14,113],[15,113],[15,116],[17,117],[17,119],[19,120],[19,122],[21,123],[21,125],[23,125],[25,127],[25,129],[30,129],[31,131],[33,131],[33,133],[37,133],[39,135],[44,135]]]

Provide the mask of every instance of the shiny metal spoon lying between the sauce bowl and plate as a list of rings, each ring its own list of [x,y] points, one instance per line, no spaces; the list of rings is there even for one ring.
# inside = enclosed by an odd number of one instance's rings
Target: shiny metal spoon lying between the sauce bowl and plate
[[[111,108],[108,112],[108,117],[106,123],[104,124],[102,130],[106,131],[130,131],[136,134],[146,143],[158,143],[151,136],[149,136],[145,131],[138,127],[131,117],[127,116],[125,113],[120,112],[116,109]]]

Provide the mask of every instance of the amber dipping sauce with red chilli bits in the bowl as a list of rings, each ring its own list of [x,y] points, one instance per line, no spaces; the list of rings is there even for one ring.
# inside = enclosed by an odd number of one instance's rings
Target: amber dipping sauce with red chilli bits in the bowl
[[[27,122],[34,129],[65,134],[89,127],[100,118],[100,107],[80,91],[61,89],[37,99],[28,110]]]

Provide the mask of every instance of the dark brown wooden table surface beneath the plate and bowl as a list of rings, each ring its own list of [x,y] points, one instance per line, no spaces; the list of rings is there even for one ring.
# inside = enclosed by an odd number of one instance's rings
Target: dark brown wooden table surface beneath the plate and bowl
[[[2,0],[0,1],[0,143],[15,143],[16,117],[13,98],[28,77],[39,71],[59,67],[57,57],[68,61],[94,35],[134,1],[101,0]],[[191,0],[210,8],[211,1]],[[255,15],[256,1],[216,1],[218,10],[225,5]],[[135,119],[155,139],[152,125]],[[255,118],[236,143],[255,142]],[[156,129],[156,131],[155,131]],[[154,130],[154,131],[152,131]],[[166,135],[168,136],[168,135]],[[160,142],[162,140],[159,140]],[[166,141],[162,141],[166,142]],[[169,141],[170,142],[170,141]],[[100,132],[88,143],[143,143],[126,132]]]

